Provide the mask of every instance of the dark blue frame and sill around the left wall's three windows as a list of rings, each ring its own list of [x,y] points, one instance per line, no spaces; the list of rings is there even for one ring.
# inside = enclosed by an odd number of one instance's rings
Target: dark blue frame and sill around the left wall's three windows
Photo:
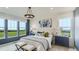
[[[4,18],[3,18],[4,19]],[[5,25],[5,30],[4,30],[4,33],[5,33],[5,35],[4,35],[4,37],[5,38],[2,38],[1,40],[0,40],[0,44],[5,44],[5,43],[9,43],[9,42],[13,42],[13,41],[17,41],[17,40],[19,40],[21,37],[24,37],[24,36],[27,36],[27,35],[29,35],[29,30],[30,30],[30,20],[26,20],[26,22],[25,22],[25,24],[26,24],[26,28],[25,28],[25,31],[26,31],[26,33],[25,33],[25,35],[23,35],[23,36],[19,36],[19,21],[17,21],[17,36],[16,37],[8,37],[8,35],[7,35],[7,33],[8,33],[8,20],[9,19],[4,19],[5,20],[5,23],[4,23],[4,25]]]

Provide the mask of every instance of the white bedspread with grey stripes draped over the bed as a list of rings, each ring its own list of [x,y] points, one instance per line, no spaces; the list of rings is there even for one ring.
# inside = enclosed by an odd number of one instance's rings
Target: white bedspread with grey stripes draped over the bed
[[[52,37],[30,35],[20,38],[18,42],[34,45],[37,51],[46,51],[51,48]]]

